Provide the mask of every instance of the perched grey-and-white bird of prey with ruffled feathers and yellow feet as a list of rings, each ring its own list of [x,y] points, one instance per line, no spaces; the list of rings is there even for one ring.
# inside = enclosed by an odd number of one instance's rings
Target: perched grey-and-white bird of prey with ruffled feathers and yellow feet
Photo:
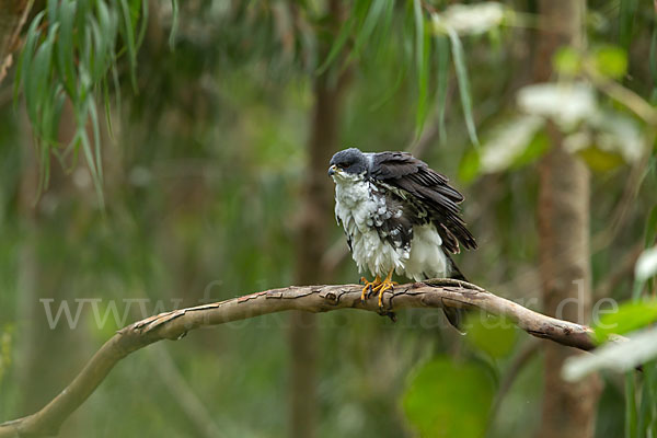
[[[383,292],[396,285],[393,273],[415,281],[465,280],[449,254],[459,253],[459,244],[476,249],[476,242],[461,218],[463,195],[446,176],[406,152],[350,148],[333,155],[330,165],[337,222],[358,270],[376,276],[361,278],[362,300],[378,292],[382,307]],[[461,312],[445,308],[445,313],[459,327]]]

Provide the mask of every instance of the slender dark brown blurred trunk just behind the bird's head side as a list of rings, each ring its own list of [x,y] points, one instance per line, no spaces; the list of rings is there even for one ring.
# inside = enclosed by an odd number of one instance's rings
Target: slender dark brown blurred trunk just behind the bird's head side
[[[330,2],[333,31],[342,23],[341,0]],[[325,55],[330,46],[323,47]],[[336,62],[338,65],[339,62]],[[337,69],[335,69],[337,70]],[[327,69],[313,84],[314,106],[308,142],[308,162],[303,183],[299,233],[297,235],[297,285],[327,280],[321,267],[326,251],[327,231],[334,223],[333,184],[326,172],[328,161],[338,149],[341,95],[347,72],[338,74]],[[290,315],[290,436],[314,437],[316,429],[316,315],[293,312]]]

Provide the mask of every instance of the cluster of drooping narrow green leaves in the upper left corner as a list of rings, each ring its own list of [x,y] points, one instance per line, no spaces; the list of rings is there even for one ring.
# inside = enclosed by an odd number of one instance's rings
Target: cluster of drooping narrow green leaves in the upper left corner
[[[172,1],[173,38],[177,2]],[[132,88],[137,90],[137,50],[146,35],[148,1],[48,0],[46,9],[32,21],[19,60],[14,96],[18,99],[19,91],[23,90],[27,115],[37,139],[39,192],[48,185],[50,153],[65,168],[72,168],[81,150],[103,206],[101,128],[96,105],[99,100],[104,100],[107,126],[112,131],[108,74],[112,72],[114,91],[119,93],[116,65],[122,54],[127,53]],[[117,46],[118,36],[122,46]],[[66,101],[72,105],[77,128],[72,139],[61,145],[58,128]]]

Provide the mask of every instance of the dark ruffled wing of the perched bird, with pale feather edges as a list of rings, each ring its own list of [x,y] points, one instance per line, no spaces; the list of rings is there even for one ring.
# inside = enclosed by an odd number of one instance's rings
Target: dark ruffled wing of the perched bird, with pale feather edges
[[[465,228],[459,204],[463,200],[447,176],[406,152],[374,153],[370,177],[400,188],[422,204],[436,226],[442,245],[459,252],[459,242],[469,250],[476,249],[474,237]]]

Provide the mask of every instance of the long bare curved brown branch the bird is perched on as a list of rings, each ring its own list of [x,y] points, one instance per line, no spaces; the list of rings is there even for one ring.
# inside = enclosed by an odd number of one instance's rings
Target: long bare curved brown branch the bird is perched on
[[[384,311],[379,309],[376,298],[361,302],[360,289],[358,285],[290,286],[160,313],[136,322],[107,341],[73,381],[45,407],[26,417],[0,424],[0,438],[56,435],[66,418],[94,392],[120,359],[149,344],[180,339],[187,332],[204,326],[286,310],[318,313],[360,309],[391,314],[411,308],[480,309],[508,319],[532,336],[583,350],[596,347],[589,327],[543,315],[464,281],[433,279],[396,286],[393,292],[384,295]]]

